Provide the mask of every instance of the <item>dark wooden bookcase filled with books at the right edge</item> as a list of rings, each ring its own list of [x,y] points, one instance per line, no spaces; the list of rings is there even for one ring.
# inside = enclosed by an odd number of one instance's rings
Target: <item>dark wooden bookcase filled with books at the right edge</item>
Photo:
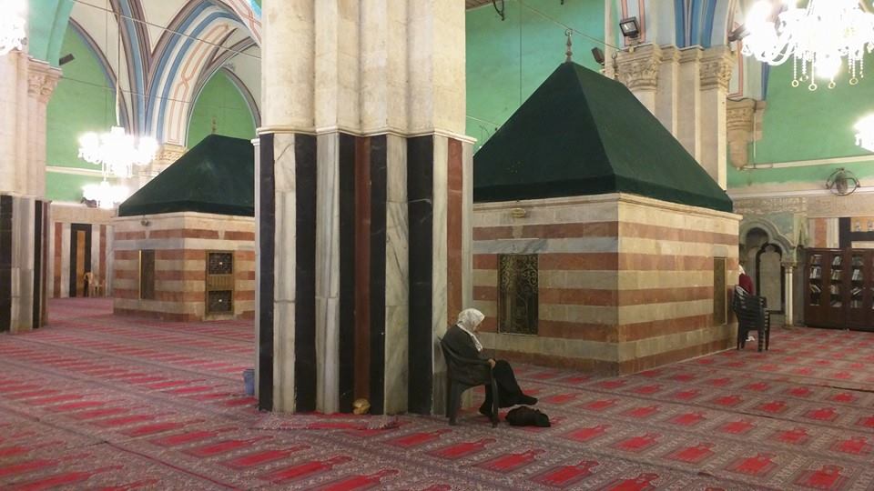
[[[809,249],[805,323],[874,330],[874,251]]]

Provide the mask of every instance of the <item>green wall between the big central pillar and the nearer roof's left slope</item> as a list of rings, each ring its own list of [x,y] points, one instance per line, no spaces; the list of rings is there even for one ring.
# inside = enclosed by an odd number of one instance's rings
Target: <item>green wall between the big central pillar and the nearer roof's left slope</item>
[[[503,21],[492,5],[467,12],[467,135],[477,138],[475,149],[564,62],[564,26],[546,17],[604,38],[603,0],[564,5],[557,0],[506,0],[504,5]],[[576,63],[601,68],[591,50],[603,45],[575,34],[573,43]]]

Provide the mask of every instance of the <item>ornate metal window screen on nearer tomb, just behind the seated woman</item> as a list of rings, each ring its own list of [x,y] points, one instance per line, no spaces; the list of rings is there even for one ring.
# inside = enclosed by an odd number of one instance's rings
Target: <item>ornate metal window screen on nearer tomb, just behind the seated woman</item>
[[[537,255],[498,256],[498,332],[537,334]]]

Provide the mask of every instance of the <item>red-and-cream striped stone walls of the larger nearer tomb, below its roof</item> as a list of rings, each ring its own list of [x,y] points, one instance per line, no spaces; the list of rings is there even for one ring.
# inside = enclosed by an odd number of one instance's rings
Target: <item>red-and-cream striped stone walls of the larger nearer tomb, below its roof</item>
[[[714,321],[714,297],[727,298],[737,279],[739,218],[634,195],[475,205],[483,343],[512,359],[615,374],[724,349],[735,326]],[[537,336],[497,332],[501,254],[538,255]],[[725,292],[714,291],[715,257],[726,258]]]

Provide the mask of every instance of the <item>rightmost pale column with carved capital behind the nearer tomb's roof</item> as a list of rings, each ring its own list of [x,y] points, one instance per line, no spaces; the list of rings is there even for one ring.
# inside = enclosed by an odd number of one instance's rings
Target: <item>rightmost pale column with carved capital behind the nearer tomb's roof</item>
[[[727,188],[727,95],[737,58],[728,46],[715,46],[701,57],[701,157],[698,162],[723,189]]]

